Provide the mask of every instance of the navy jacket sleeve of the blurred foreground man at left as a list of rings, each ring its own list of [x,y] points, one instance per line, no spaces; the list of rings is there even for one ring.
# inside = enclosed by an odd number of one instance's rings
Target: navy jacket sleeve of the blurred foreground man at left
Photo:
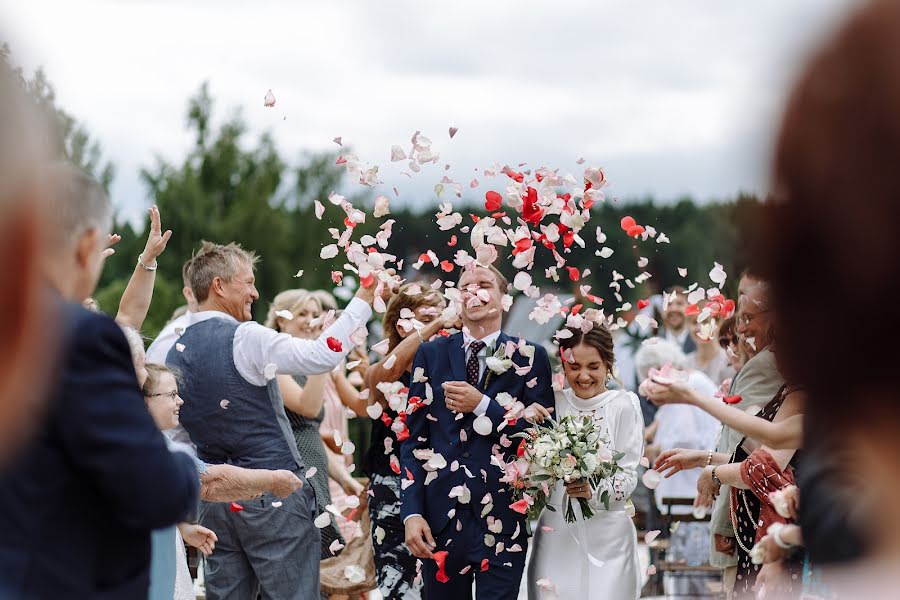
[[[125,336],[99,315],[84,318],[74,335],[60,406],[71,460],[123,523],[156,529],[184,520],[196,509],[197,470],[190,456],[166,447],[138,389]]]

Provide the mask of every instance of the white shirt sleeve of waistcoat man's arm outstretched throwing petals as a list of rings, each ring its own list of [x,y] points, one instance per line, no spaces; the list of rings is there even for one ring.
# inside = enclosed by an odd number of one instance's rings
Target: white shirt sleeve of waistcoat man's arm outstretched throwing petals
[[[295,338],[278,333],[256,322],[243,323],[234,334],[234,365],[248,382],[267,383],[266,367],[274,365],[282,375],[318,375],[337,367],[353,348],[350,335],[365,327],[372,308],[364,300],[354,298],[340,318],[315,340]],[[341,343],[339,352],[328,347],[328,338]]]

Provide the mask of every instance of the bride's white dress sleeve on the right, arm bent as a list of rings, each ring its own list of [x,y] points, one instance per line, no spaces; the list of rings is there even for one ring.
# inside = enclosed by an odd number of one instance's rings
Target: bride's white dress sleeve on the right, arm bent
[[[609,491],[610,502],[624,502],[637,487],[637,468],[644,454],[644,421],[637,397],[632,396],[631,392],[622,394],[606,411],[609,447],[612,451],[623,452],[625,455],[619,460],[622,470],[613,476],[612,481],[604,481],[597,488],[592,502],[598,508],[603,506],[600,496],[604,491]]]

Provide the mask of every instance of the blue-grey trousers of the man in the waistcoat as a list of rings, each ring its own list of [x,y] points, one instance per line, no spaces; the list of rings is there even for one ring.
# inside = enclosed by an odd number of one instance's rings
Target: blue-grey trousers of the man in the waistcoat
[[[219,538],[206,559],[207,599],[252,600],[257,593],[264,600],[318,598],[321,541],[312,486],[284,499],[266,493],[239,504],[240,512],[226,502],[200,506],[200,524]]]

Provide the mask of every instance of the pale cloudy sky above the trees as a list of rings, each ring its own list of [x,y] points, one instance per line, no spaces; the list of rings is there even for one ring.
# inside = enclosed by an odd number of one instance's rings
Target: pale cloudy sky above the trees
[[[494,163],[577,172],[584,157],[615,197],[708,200],[765,190],[790,82],[856,4],[28,0],[3,3],[0,35],[102,142],[128,217],[149,204],[138,169],[191,143],[186,101],[207,80],[220,116],[242,108],[285,156],[342,136],[406,202],[433,203],[443,175],[389,164],[417,129],[460,181]]]

